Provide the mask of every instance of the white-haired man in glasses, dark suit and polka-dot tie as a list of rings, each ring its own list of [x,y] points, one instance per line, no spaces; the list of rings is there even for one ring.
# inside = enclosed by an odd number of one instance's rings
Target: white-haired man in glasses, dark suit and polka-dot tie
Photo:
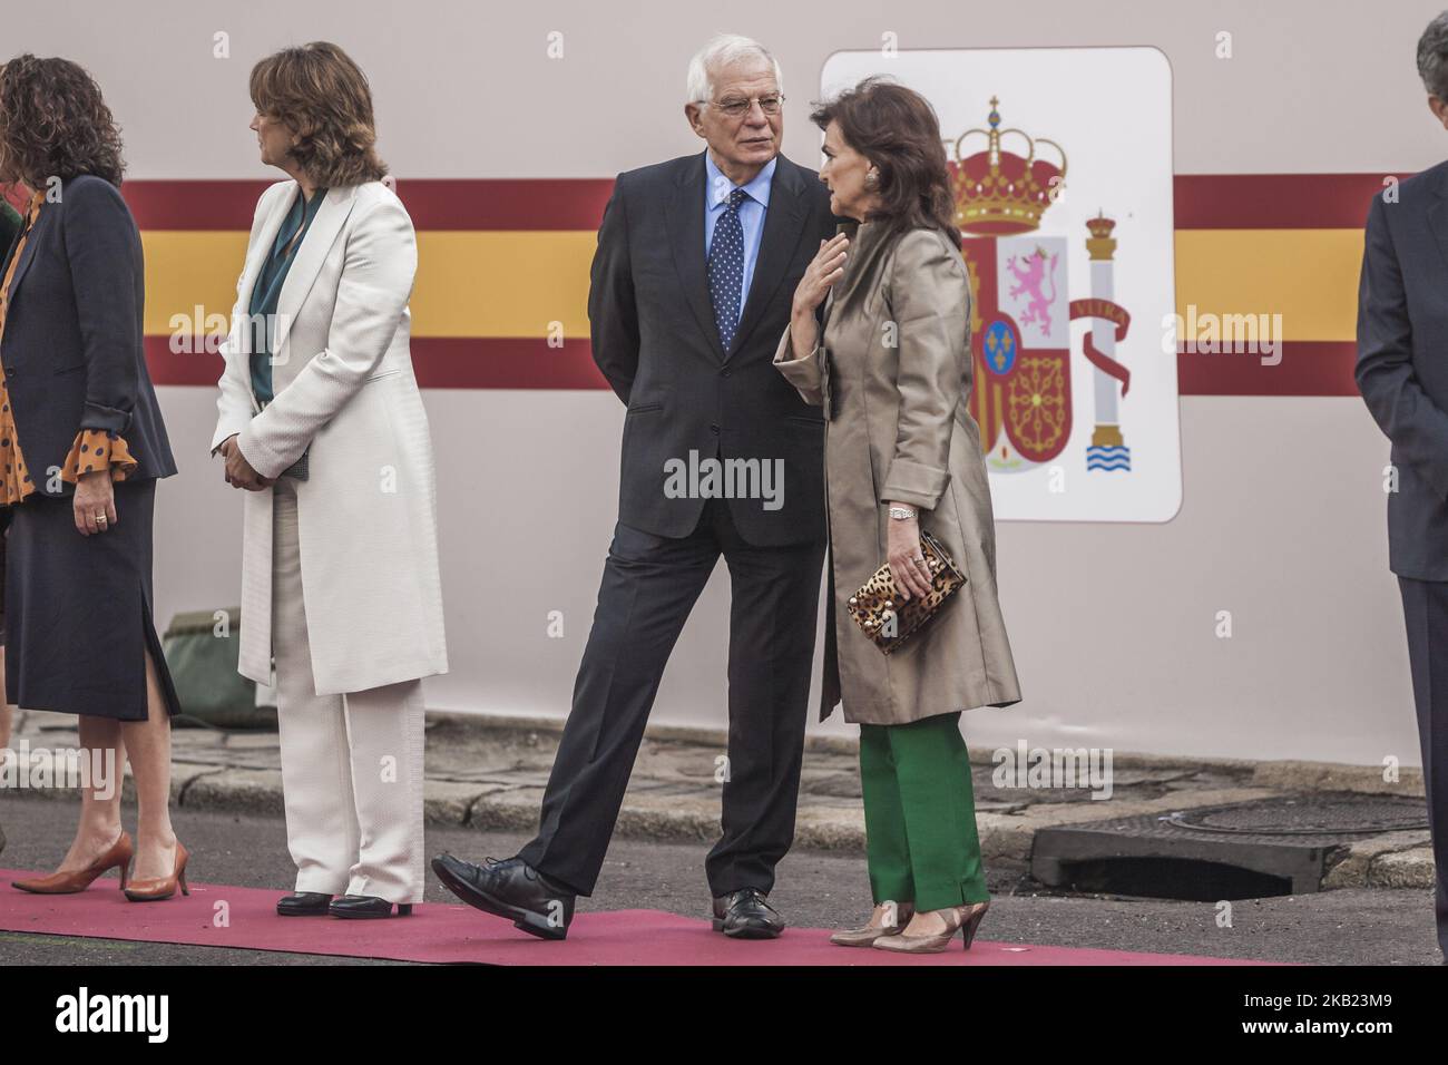
[[[783,927],[766,897],[795,829],[824,423],[772,359],[834,219],[818,175],[779,154],[779,83],[759,43],[710,42],[685,104],[708,148],[620,174],[598,232],[594,358],[628,412],[572,713],[537,838],[485,866],[433,862],[463,901],[544,939],[563,939],[573,898],[594,890],[669,652],[720,555],[733,604],[724,833],[705,862],[714,929],[762,939]],[[724,474],[712,485],[711,469]]]

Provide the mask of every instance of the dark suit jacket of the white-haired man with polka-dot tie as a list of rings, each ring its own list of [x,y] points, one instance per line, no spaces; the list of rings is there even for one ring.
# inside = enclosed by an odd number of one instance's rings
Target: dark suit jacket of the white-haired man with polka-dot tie
[[[724,351],[704,255],[704,152],[620,174],[604,209],[588,319],[594,361],[628,406],[618,520],[686,536],[704,497],[670,498],[665,464],[698,458],[783,461],[778,510],[730,498],[750,543],[824,539],[824,422],[773,367],[795,287],[834,236],[820,177],[778,156],[759,259],[734,343]]]

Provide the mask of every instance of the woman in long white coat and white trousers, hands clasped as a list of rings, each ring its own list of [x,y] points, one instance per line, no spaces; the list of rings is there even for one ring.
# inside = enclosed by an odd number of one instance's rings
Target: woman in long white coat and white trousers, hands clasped
[[[423,898],[421,678],[447,671],[408,346],[417,243],[340,48],[262,59],[251,94],[262,161],[290,180],[256,204],[211,443],[246,490],[239,671],[277,687],[297,864],[277,911],[408,914]]]

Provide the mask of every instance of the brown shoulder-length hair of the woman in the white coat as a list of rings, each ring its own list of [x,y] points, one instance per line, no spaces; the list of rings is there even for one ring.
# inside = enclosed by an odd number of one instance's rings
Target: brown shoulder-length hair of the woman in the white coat
[[[323,188],[376,181],[387,167],[376,158],[372,90],[352,57],[333,43],[284,48],[252,67],[258,114],[285,122],[297,135],[291,149],[301,172]]]

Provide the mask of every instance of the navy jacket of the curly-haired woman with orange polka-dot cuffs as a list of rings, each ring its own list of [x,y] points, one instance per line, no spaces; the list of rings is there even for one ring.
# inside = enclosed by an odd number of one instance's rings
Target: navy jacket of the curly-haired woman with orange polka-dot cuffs
[[[25,242],[0,341],[16,433],[39,494],[75,490],[62,481],[51,491],[49,471],[81,429],[125,438],[139,467],[127,481],[177,471],[146,371],[143,306],[140,233],[120,190],[98,177],[67,180]]]

